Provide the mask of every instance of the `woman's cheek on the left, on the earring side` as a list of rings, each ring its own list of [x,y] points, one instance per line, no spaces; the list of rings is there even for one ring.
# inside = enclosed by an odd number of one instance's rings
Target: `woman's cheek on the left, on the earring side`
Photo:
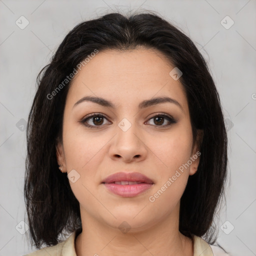
[[[93,209],[98,207],[98,201],[91,193],[95,194],[95,185],[100,180],[100,173],[96,170],[102,161],[101,148],[108,140],[106,136],[99,139],[96,135],[86,134],[84,130],[82,132],[80,128],[75,129],[74,126],[63,129],[67,173],[71,176],[71,171],[76,171],[75,182],[69,179],[71,190],[80,205],[93,215],[97,215]],[[99,196],[97,198],[100,199]]]

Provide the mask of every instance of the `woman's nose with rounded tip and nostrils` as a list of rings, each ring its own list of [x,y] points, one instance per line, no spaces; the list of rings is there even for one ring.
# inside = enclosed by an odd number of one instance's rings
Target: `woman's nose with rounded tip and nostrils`
[[[116,126],[117,134],[113,137],[109,148],[109,156],[113,160],[124,162],[141,161],[145,159],[147,147],[142,132],[132,124],[127,130]]]

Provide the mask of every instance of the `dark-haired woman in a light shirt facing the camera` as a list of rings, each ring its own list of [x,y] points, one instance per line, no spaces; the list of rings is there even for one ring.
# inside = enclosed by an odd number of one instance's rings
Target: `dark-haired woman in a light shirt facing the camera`
[[[42,71],[27,128],[39,249],[28,255],[225,255],[212,244],[226,131],[192,41],[156,14],[110,13],[75,26]]]

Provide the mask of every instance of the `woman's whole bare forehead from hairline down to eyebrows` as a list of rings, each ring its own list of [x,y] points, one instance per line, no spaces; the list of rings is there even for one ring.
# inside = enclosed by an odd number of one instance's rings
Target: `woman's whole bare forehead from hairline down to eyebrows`
[[[173,68],[156,49],[99,51],[75,75],[68,98],[93,95],[132,104],[136,99],[171,96],[186,108],[183,86],[169,75]]]

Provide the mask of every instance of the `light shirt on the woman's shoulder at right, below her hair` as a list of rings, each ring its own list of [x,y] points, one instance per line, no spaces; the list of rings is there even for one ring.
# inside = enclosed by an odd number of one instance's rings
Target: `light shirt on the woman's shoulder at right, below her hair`
[[[229,256],[220,247],[208,244],[203,238],[193,235],[193,256]]]

